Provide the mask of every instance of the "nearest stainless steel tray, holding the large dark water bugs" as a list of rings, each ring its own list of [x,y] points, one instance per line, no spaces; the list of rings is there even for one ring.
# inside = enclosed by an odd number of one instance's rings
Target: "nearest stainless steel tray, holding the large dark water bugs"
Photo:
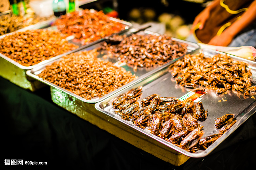
[[[212,57],[213,55],[218,53],[225,54],[210,49],[198,49],[196,51],[191,52],[190,54],[198,53],[203,53],[205,56],[208,57]],[[256,80],[256,62],[248,61],[233,55],[229,56],[232,57],[234,60],[244,61],[248,63],[248,68],[250,68],[252,72],[252,79],[253,81]],[[256,94],[255,92],[252,92],[247,98],[244,98],[242,92],[228,91],[227,94],[217,95],[216,91],[205,90],[207,94],[202,96],[200,101],[203,103],[204,109],[208,109],[208,117],[203,122],[199,121],[199,123],[203,126],[204,131],[204,135],[202,137],[218,133],[218,129],[216,129],[214,125],[214,120],[225,114],[235,114],[237,122],[206,150],[199,150],[195,153],[185,151],[171,144],[170,142],[151,134],[150,130],[148,130],[147,128],[143,130],[135,126],[132,123],[132,121],[121,119],[120,114],[114,112],[115,109],[111,105],[111,102],[120,94],[123,94],[129,91],[130,89],[136,88],[138,86],[143,86],[141,99],[152,94],[159,94],[160,97],[162,96],[180,98],[186,95],[189,91],[191,91],[190,88],[182,87],[176,84],[174,78],[171,76],[171,73],[168,72],[168,70],[168,66],[161,68],[161,70],[158,70],[158,72],[154,72],[151,75],[148,75],[145,79],[136,82],[136,84],[133,84],[128,88],[122,89],[118,93],[110,96],[109,98],[106,98],[101,102],[96,103],[95,108],[98,111],[105,113],[106,115],[116,120],[119,120],[120,122],[123,122],[124,124],[128,125],[131,129],[136,129],[141,133],[141,135],[147,135],[148,138],[155,139],[156,141],[159,142],[159,144],[164,144],[172,148],[173,150],[178,151],[189,157],[204,157],[211,153],[221,142],[223,142],[232,132],[234,132],[246,119],[248,119],[256,111],[255,99],[251,98]]]

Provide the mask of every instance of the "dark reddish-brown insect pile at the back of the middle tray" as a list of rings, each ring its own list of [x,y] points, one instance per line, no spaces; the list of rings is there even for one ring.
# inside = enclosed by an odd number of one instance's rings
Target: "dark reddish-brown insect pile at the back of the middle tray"
[[[107,50],[108,55],[120,58],[121,62],[136,71],[140,67],[160,66],[184,55],[187,45],[177,43],[166,35],[133,34],[124,35],[123,40],[115,45],[104,42],[100,50]]]

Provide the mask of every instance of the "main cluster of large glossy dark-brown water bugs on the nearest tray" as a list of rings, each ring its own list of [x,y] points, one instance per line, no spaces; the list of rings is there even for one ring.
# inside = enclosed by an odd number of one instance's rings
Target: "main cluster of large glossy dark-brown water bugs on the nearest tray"
[[[132,121],[134,125],[148,129],[152,134],[189,152],[205,149],[221,136],[217,134],[215,137],[202,138],[203,126],[199,121],[204,121],[208,113],[202,102],[188,100],[183,103],[178,98],[160,97],[158,94],[140,99],[141,93],[142,86],[139,86],[119,95],[112,101],[117,109],[115,112],[122,119]]]

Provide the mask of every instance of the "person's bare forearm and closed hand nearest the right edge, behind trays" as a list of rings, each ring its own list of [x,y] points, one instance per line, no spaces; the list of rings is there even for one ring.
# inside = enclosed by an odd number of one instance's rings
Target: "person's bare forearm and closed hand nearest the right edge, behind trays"
[[[226,28],[221,35],[214,36],[210,41],[209,45],[215,46],[228,46],[233,38],[243,29],[250,25],[256,19],[256,0],[254,0],[248,10],[245,11],[241,18],[235,21],[231,26]]]

